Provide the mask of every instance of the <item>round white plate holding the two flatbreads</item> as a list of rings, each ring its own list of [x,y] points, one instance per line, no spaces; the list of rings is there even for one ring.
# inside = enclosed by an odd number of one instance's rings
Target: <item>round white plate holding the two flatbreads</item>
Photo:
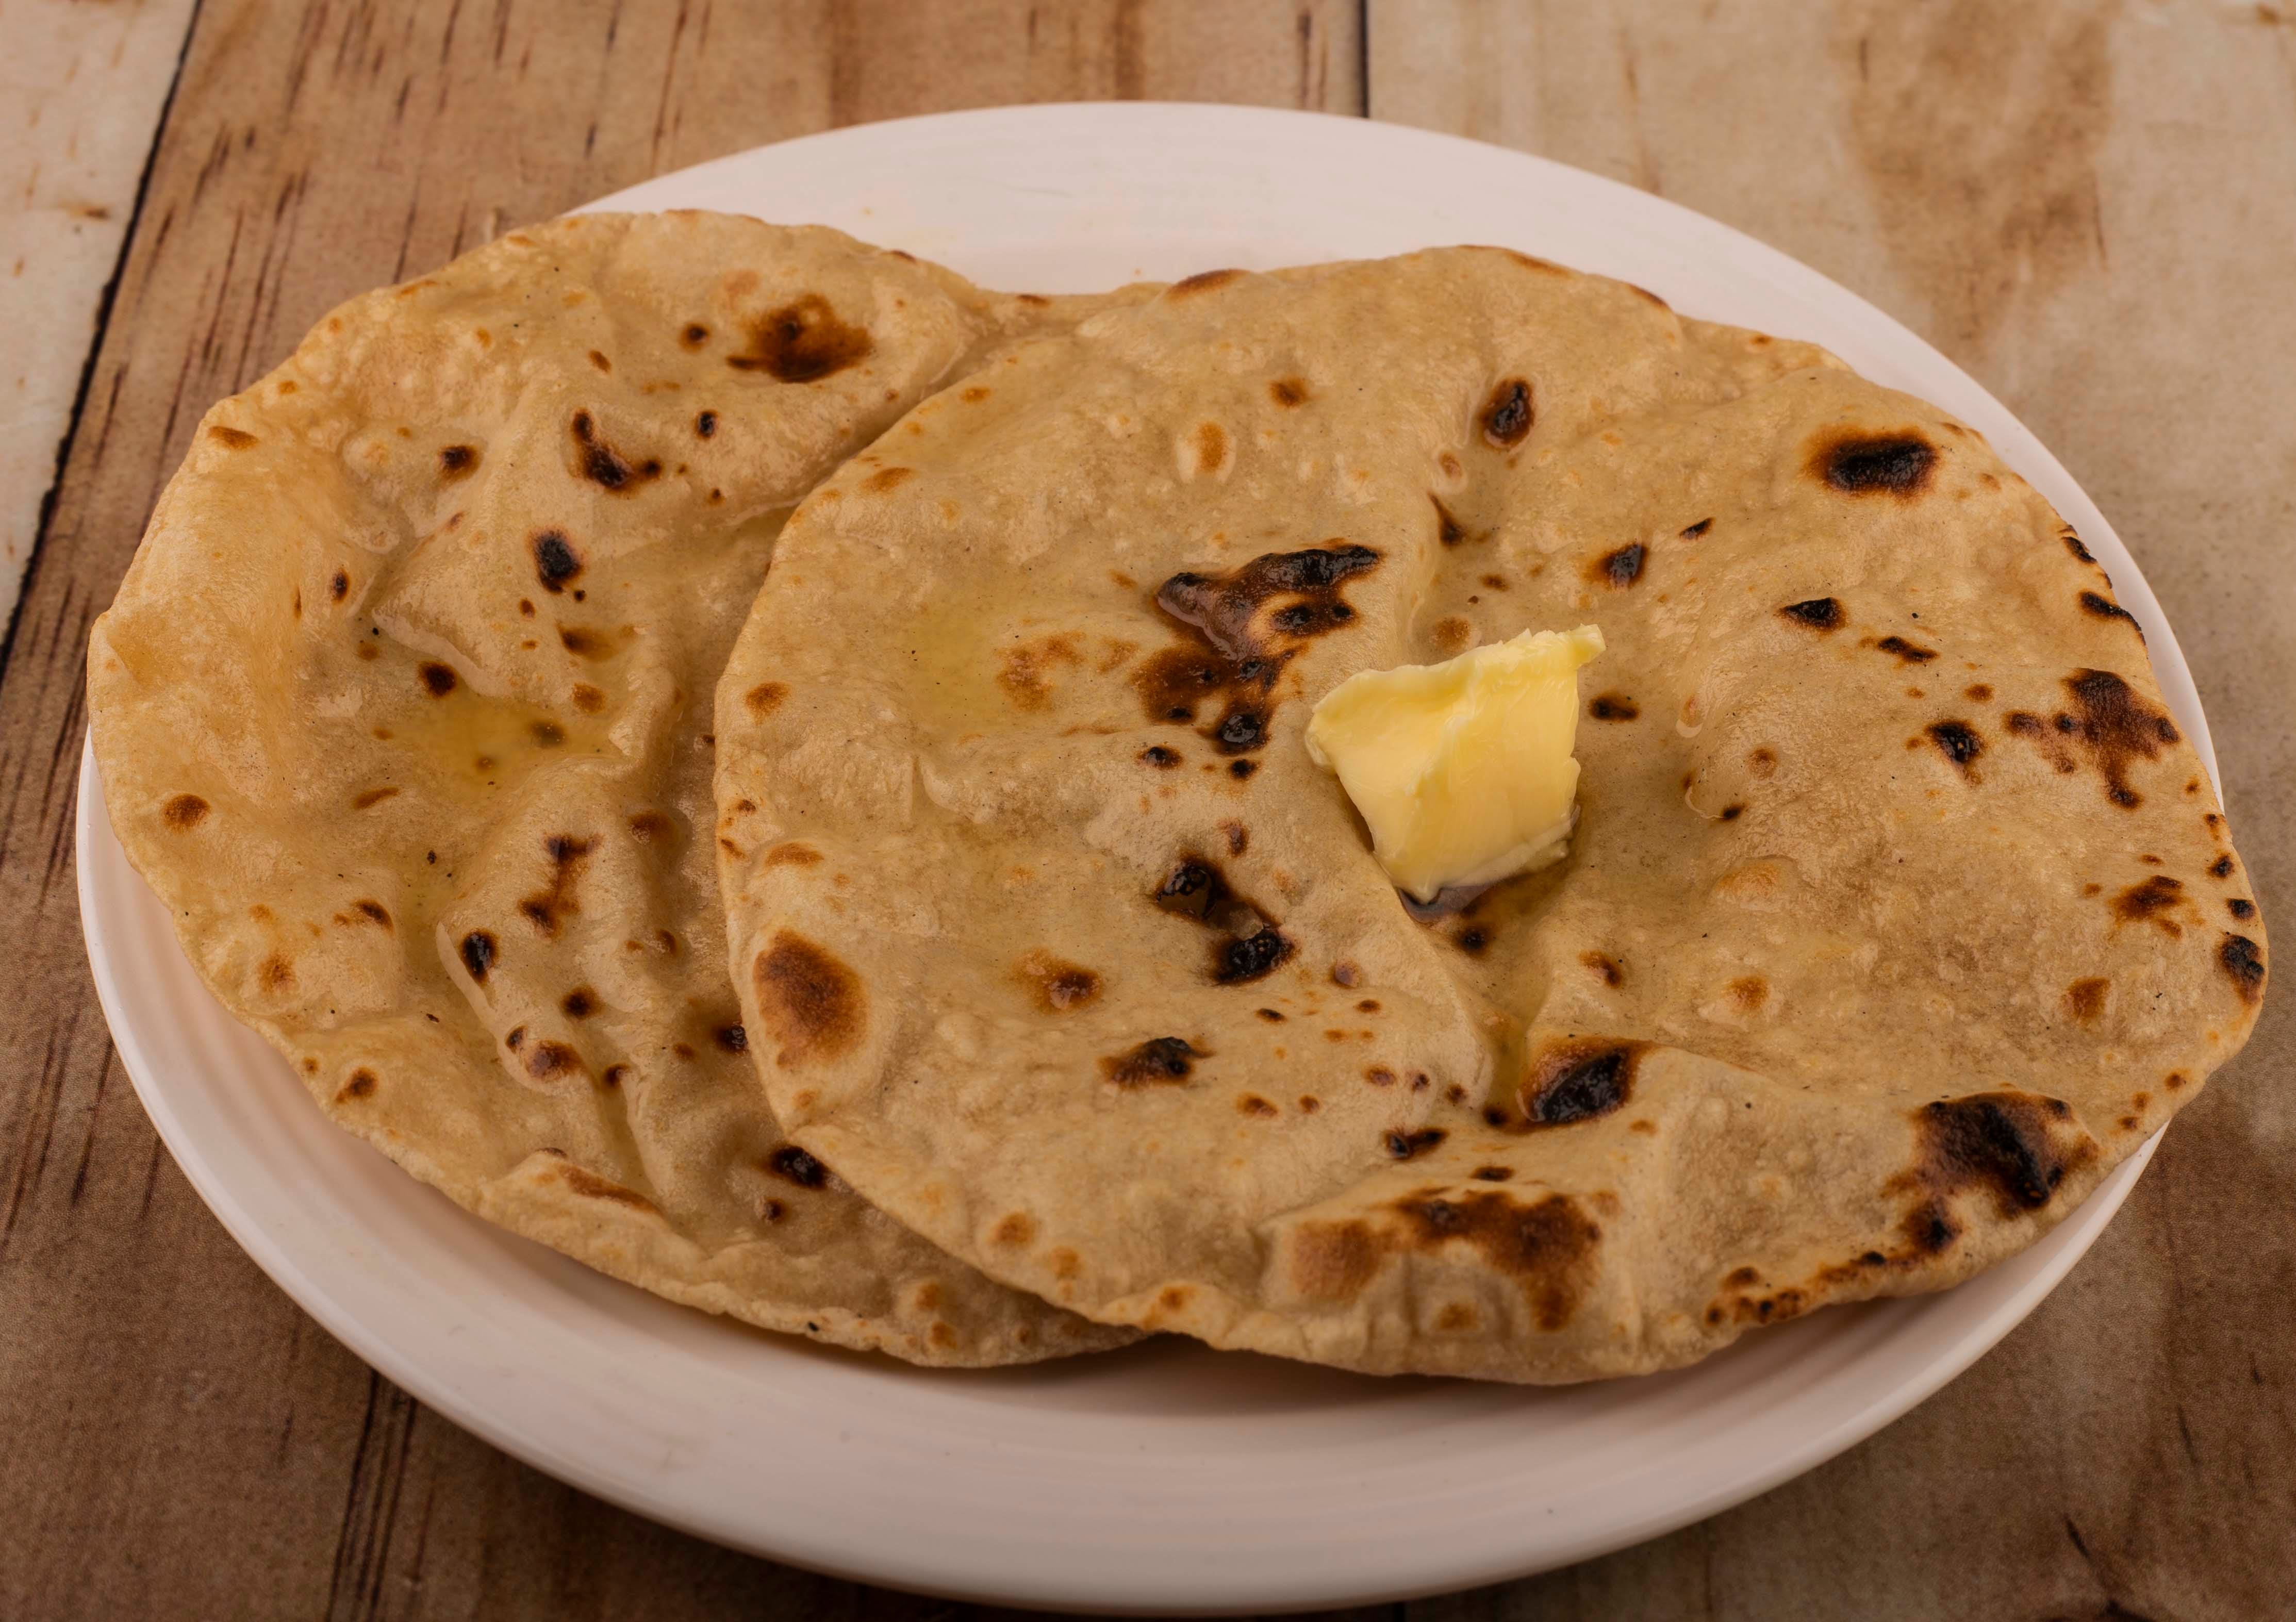
[[[822,221],[1013,292],[1486,241],[1816,340],[1979,427],[2080,528],[2216,772],[2151,590],[1998,400],[1816,271],[1593,175],[1341,117],[1045,106],[760,147],[597,207]],[[923,1372],[673,1307],[461,1213],[328,1126],[202,990],[113,839],[92,758],[78,839],[87,953],[135,1091],[232,1236],[338,1339],[457,1424],[641,1514],[969,1599],[1348,1606],[1697,1521],[1965,1369],[2080,1259],[2151,1153],[1961,1289],[1818,1312],[1678,1374],[1561,1390],[1378,1381],[1176,1342]]]

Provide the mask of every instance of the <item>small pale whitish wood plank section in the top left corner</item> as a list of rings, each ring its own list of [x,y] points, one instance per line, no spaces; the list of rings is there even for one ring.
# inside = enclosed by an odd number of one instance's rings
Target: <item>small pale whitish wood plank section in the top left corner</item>
[[[0,625],[55,485],[193,0],[0,5]]]

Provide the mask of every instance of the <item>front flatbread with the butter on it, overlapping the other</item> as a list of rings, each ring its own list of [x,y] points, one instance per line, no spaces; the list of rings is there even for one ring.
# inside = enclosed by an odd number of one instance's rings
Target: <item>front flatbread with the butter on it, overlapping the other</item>
[[[1311,705],[1582,623],[1568,859],[1414,914]],[[1963,1280],[2264,986],[2135,620],[1977,432],[1499,250],[1189,278],[925,402],[716,726],[794,1140],[1104,1323],[1352,1369]]]

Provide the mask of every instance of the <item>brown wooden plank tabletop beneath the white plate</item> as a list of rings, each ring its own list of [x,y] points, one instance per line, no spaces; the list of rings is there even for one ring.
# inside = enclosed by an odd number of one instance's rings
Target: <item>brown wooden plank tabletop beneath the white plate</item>
[[[785,136],[1001,101],[1371,113],[1800,255],[2002,395],[2177,623],[2296,894],[2296,9],[2213,0],[0,0],[0,1615],[955,1615],[560,1486],[331,1342],[106,1041],[80,659],[191,425],[338,299]],[[2285,887],[2285,880],[2291,880]],[[2278,917],[2278,914],[2275,914]],[[1995,1353],[1835,1463],[1465,1617],[2296,1608],[2296,1034],[2275,997]]]

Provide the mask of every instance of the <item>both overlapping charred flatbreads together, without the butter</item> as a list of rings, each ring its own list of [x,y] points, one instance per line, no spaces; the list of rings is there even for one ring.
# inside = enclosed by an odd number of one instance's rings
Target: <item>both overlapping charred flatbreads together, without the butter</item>
[[[1598,625],[1566,859],[1302,742]],[[579,216],[218,404],[106,802],[335,1121],[673,1300],[1577,1381],[2030,1245],[2264,928],[2080,538],[1809,345],[1490,248],[987,294]]]

